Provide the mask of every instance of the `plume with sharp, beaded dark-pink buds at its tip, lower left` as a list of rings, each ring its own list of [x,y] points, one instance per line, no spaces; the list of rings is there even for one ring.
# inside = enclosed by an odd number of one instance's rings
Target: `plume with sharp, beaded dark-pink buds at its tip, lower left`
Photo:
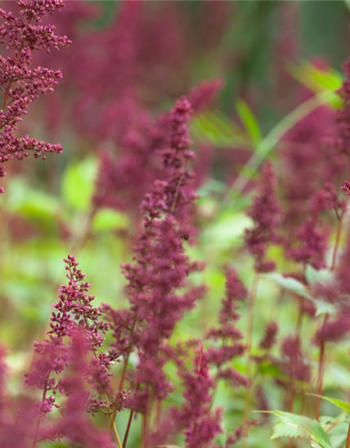
[[[92,386],[92,391],[98,396],[109,392],[111,365],[116,357],[113,353],[106,355],[98,353],[104,342],[104,335],[108,324],[101,319],[101,312],[92,306],[94,299],[88,295],[89,283],[83,281],[85,274],[78,269],[78,262],[72,255],[64,260],[66,263],[68,285],[59,288],[59,301],[53,306],[55,311],[50,318],[50,330],[42,342],[34,342],[35,358],[31,370],[25,373],[25,384],[35,386],[43,391],[42,399],[36,406],[38,423],[57,407],[56,395],[71,395],[73,383],[69,378],[63,378],[71,363],[71,345],[73,335],[79,330],[86,341],[86,352],[90,353],[90,360],[86,361],[83,376]],[[94,395],[87,393],[86,406],[90,400],[96,403]],[[107,399],[106,399],[107,401]],[[100,402],[103,409],[108,402]],[[94,406],[94,412],[97,407]],[[37,427],[38,429],[38,427]],[[37,430],[34,439],[38,437]]]

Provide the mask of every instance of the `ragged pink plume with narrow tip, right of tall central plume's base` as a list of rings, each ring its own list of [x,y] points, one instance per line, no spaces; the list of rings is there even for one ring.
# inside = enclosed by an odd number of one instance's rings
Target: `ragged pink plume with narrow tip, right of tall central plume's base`
[[[225,274],[226,291],[219,311],[219,325],[209,330],[205,338],[206,347],[202,342],[190,341],[172,357],[178,366],[185,400],[181,407],[171,407],[162,419],[158,432],[153,434],[153,440],[158,443],[167,442],[169,435],[183,433],[186,448],[211,446],[216,436],[223,432],[223,409],[213,408],[218,381],[227,381],[231,387],[247,387],[249,384],[248,379],[230,366],[232,360],[242,356],[246,349],[239,342],[243,335],[236,323],[240,317],[237,312],[239,302],[244,300],[247,291],[235,270],[228,265],[225,266]],[[193,358],[193,348],[195,356],[189,369],[186,363],[188,358]]]

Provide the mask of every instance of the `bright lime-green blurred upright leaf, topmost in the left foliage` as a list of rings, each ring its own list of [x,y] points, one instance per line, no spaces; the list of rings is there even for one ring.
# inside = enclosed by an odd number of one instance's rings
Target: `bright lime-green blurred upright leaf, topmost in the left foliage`
[[[64,201],[73,210],[87,211],[90,208],[96,174],[97,160],[94,158],[87,158],[66,168],[62,193]]]

